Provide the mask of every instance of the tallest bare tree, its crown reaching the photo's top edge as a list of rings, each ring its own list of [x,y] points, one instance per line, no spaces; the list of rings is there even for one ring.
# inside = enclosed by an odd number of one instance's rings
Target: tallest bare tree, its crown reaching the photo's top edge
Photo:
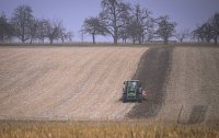
[[[100,19],[105,24],[105,32],[110,34],[114,44],[118,41],[118,31],[124,26],[124,16],[128,13],[129,4],[122,0],[102,0]]]

